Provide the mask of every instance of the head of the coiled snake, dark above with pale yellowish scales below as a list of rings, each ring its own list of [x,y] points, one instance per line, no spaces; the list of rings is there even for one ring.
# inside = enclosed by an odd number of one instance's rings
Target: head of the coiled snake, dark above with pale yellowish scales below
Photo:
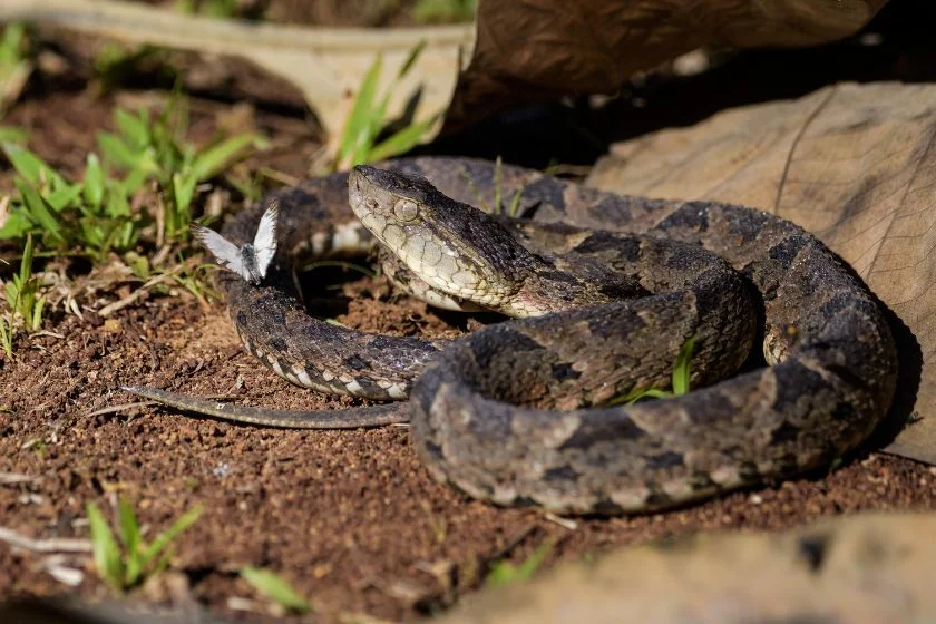
[[[521,286],[534,262],[501,224],[426,178],[359,165],[348,191],[364,227],[446,294],[496,309]]]

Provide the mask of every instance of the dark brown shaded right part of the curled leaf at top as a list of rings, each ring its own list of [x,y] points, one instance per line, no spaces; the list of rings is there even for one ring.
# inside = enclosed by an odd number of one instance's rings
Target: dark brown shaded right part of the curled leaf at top
[[[636,71],[700,47],[826,43],[857,32],[887,0],[481,1],[475,55],[446,129],[510,105],[610,94]]]

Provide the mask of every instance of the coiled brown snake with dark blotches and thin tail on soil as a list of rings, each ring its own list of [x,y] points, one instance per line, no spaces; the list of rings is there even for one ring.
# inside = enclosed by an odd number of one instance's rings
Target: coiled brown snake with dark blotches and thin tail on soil
[[[383,402],[296,412],[127,390],[262,426],[409,422],[438,481],[500,506],[598,516],[828,467],[896,391],[879,301],[819,238],[768,212],[426,156],[273,191],[222,234],[250,241],[271,202],[266,279],[217,276],[245,350],[298,386]],[[430,340],[315,318],[295,270],[376,247],[404,290],[507,319]],[[690,391],[621,401],[667,386],[686,345]]]

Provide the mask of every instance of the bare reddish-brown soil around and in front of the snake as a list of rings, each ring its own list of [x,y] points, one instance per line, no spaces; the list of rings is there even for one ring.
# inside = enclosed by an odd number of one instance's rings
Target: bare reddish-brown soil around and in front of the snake
[[[113,100],[85,94],[36,96],[4,119],[31,128],[30,146],[67,174],[80,172],[94,131],[110,126]],[[208,137],[215,116],[193,115]],[[257,116],[274,148],[260,162],[303,175],[316,145],[301,124]],[[284,129],[289,128],[289,129]],[[0,172],[0,188],[10,187]],[[457,334],[465,322],[393,299],[386,284],[349,274],[337,295],[351,326],[399,334]],[[76,276],[76,284],[87,276]],[[103,292],[89,308],[131,285]],[[933,509],[936,469],[870,454],[829,474],[738,493],[669,514],[557,521],[533,509],[498,509],[431,481],[406,428],[282,431],[181,416],[117,390],[145,382],[198,396],[280,408],[351,401],[296,389],[244,354],[223,309],[184,291],[142,299],[105,322],[55,310],[45,330],[20,339],[0,368],[0,526],[32,538],[87,537],[85,504],[128,498],[152,537],[185,510],[203,517],[175,547],[172,567],[194,598],[230,617],[267,613],[236,571],[261,566],[290,579],[315,605],[318,622],[349,614],[401,620],[432,613],[476,589],[498,558],[523,560],[554,540],[546,565],[611,547],[688,532],[784,528],[862,509]],[[0,595],[109,596],[88,555],[65,563],[85,572],[67,587],[45,555],[0,543]],[[152,587],[150,587],[152,589]],[[158,591],[149,591],[154,596]],[[181,594],[181,595],[179,595]],[[251,610],[237,611],[236,606]]]

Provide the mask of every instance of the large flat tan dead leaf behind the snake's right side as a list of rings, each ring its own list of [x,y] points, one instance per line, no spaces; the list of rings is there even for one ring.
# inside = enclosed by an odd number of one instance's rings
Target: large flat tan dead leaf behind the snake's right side
[[[936,86],[842,84],[615,145],[589,183],[754,206],[821,237],[913,332],[896,328],[910,422],[888,450],[936,462],[934,142]]]

